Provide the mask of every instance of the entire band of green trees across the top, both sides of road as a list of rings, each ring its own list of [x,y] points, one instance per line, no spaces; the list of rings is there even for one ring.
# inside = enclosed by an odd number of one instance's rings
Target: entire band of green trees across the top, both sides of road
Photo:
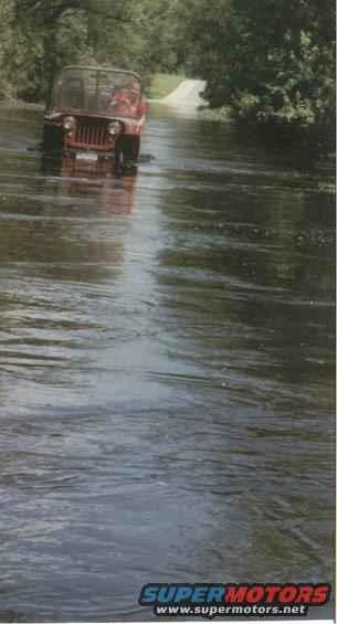
[[[66,63],[207,81],[232,119],[328,135],[333,0],[1,0],[0,93],[45,98]]]

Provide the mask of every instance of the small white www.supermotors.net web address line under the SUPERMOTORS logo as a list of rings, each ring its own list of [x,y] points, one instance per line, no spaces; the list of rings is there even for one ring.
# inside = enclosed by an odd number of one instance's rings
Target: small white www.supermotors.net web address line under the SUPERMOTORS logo
[[[266,605],[196,605],[196,606],[188,606],[188,605],[157,605],[154,606],[155,615],[172,617],[175,615],[179,616],[196,616],[201,615],[203,617],[208,617],[212,620],[212,617],[217,617],[219,615],[233,615],[233,616],[292,616],[292,615],[307,615],[308,607],[304,604],[299,605],[285,605],[285,606],[266,606]]]

